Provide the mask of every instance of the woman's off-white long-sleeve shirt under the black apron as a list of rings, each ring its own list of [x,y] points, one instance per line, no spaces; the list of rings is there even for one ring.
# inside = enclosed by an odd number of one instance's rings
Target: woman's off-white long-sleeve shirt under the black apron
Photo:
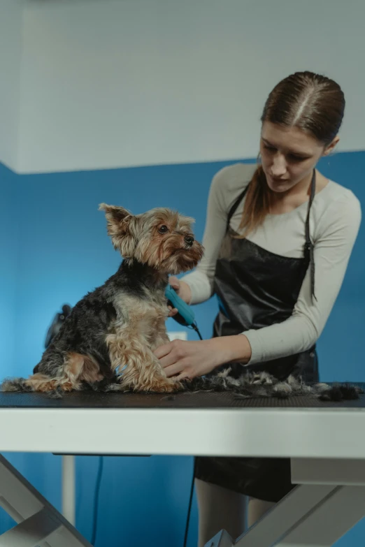
[[[250,182],[256,166],[235,163],[213,177],[208,196],[203,235],[205,254],[194,272],[182,279],[192,291],[190,304],[213,296],[215,262],[234,200]],[[231,218],[231,228],[239,233],[245,198]],[[300,258],[305,242],[308,203],[282,214],[268,214],[262,226],[248,240],[282,256]],[[292,315],[282,323],[245,331],[252,349],[249,364],[285,357],[313,347],[322,333],[348,266],[362,219],[359,200],[349,189],[329,181],[317,192],[310,209],[310,238],[314,244],[315,299],[310,296],[310,268],[303,280]]]

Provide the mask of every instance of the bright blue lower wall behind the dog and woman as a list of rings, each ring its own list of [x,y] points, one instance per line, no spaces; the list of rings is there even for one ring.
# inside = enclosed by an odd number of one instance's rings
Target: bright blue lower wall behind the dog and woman
[[[338,154],[320,169],[351,188],[365,203],[365,152]],[[16,176],[0,168],[0,363],[1,376],[29,374],[43,351],[45,332],[64,302],[74,305],[111,275],[120,258],[106,235],[99,203],[132,212],[166,205],[196,218],[201,239],[210,181],[225,163]],[[365,326],[365,228],[362,226],[343,289],[318,344],[321,379],[365,380],[362,328]],[[210,337],[215,299],[196,307],[203,337]],[[172,319],[171,330],[180,329]],[[190,339],[195,333],[188,330]],[[21,340],[21,343],[20,343]],[[6,454],[5,454],[6,455]],[[48,454],[6,455],[50,502],[60,508],[60,458]],[[90,539],[92,496],[98,460],[77,459],[77,527]],[[183,542],[192,458],[104,458],[98,547],[136,547]],[[361,523],[339,541],[359,544]],[[0,527],[10,519],[0,514]],[[189,546],[196,545],[194,499]],[[102,538],[102,540],[101,540]]]

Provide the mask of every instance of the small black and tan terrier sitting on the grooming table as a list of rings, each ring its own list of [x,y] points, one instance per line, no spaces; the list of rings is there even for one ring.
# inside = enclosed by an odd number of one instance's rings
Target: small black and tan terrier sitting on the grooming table
[[[73,307],[34,374],[4,381],[2,391],[60,395],[103,382],[121,391],[181,390],[153,351],[169,342],[164,295],[169,274],[192,270],[203,256],[192,233],[194,219],[163,207],[134,215],[101,203],[99,210],[124,258],[120,268]]]

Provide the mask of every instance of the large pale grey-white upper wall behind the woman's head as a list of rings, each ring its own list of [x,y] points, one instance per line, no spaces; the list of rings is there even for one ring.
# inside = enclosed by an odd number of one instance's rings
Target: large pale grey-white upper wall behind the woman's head
[[[14,1],[14,0],[12,0]],[[363,0],[28,0],[20,173],[257,155],[280,78],[338,80],[365,149]]]

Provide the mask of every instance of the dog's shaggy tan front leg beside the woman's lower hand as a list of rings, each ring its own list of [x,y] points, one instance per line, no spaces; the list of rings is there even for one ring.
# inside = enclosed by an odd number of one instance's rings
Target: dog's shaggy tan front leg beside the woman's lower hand
[[[150,391],[171,393],[180,391],[180,382],[166,377],[159,360],[142,336],[131,336],[128,330],[110,334],[106,338],[113,372],[120,372],[122,391]]]

